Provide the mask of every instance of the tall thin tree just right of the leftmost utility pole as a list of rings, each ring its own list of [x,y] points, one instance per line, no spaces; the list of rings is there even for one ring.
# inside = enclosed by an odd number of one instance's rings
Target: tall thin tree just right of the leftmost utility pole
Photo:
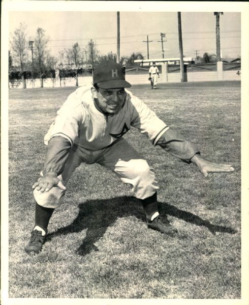
[[[43,88],[43,74],[46,71],[46,58],[48,56],[47,44],[49,38],[45,35],[45,30],[38,27],[35,38],[35,65],[41,80],[41,88]]]

